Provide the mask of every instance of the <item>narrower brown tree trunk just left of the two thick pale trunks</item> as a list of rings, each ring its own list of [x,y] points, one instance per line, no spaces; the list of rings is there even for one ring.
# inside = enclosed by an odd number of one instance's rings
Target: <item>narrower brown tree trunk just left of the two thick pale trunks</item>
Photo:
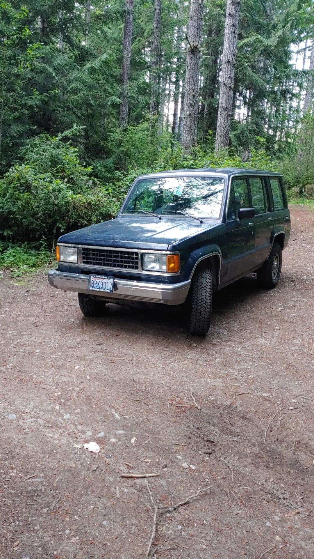
[[[150,49],[150,116],[158,112],[158,66],[160,59],[161,0],[155,0],[154,31]]]

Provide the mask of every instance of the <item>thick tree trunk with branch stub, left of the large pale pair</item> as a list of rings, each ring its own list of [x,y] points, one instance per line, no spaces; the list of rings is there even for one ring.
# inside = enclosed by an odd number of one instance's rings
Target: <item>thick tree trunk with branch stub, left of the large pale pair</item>
[[[182,145],[190,151],[197,143],[199,63],[204,0],[191,0],[187,32],[188,50],[185,70],[184,120]]]

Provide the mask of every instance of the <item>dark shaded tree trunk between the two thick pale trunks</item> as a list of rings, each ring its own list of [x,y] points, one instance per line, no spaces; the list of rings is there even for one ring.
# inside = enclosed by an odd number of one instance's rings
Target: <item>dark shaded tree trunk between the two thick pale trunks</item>
[[[219,27],[217,21],[213,21],[212,23],[212,32],[211,32],[211,41],[210,41],[210,49],[207,59],[207,72],[205,80],[205,87],[204,87],[204,113],[203,113],[203,132],[202,138],[204,139],[207,134],[208,130],[213,128],[215,124],[215,112],[216,112],[216,102],[215,102],[215,94],[216,94],[216,86],[217,86],[217,75],[218,75],[218,56],[219,56],[219,46],[218,46],[218,38],[219,38]]]

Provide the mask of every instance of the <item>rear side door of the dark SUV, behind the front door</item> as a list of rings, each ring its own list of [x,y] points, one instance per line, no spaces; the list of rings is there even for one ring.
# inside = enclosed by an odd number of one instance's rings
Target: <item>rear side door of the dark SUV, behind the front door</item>
[[[249,177],[252,207],[255,210],[255,252],[254,266],[263,264],[268,258],[273,230],[273,217],[269,210],[265,177]]]

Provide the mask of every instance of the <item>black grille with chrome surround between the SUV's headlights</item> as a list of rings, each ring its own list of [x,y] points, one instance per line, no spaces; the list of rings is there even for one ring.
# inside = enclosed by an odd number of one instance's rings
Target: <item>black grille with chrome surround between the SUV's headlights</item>
[[[110,250],[101,248],[82,248],[82,263],[87,266],[104,268],[139,269],[139,253],[129,250]]]

